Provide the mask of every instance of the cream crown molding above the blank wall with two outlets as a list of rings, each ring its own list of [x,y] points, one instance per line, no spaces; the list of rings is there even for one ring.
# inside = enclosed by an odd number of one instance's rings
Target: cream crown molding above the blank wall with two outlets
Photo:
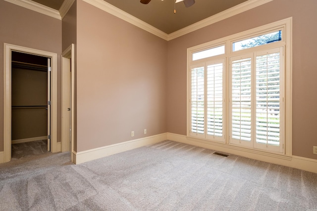
[[[89,4],[92,4],[122,20],[125,20],[149,33],[152,33],[156,36],[158,36],[161,39],[164,39],[167,41],[168,39],[168,35],[162,31],[160,31],[159,29],[151,26],[150,24],[134,17],[133,15],[130,15],[129,13],[113,6],[112,4],[109,4],[108,2],[104,1],[104,0],[83,0]]]

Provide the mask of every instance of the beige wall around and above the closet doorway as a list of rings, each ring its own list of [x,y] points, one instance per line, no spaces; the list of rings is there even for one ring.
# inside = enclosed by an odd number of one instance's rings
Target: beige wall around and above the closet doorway
[[[0,137],[3,137],[3,43],[57,53],[57,92],[60,93],[61,21],[4,0],[0,1]],[[60,105],[57,105],[57,112],[60,114]],[[60,141],[60,115],[57,116],[57,121],[57,141]],[[3,151],[3,138],[0,138],[0,151]]]

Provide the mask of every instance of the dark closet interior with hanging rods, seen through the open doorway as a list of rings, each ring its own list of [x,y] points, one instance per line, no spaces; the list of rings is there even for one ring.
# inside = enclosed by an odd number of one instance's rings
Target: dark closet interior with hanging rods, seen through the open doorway
[[[11,51],[11,156],[51,151],[51,58]]]

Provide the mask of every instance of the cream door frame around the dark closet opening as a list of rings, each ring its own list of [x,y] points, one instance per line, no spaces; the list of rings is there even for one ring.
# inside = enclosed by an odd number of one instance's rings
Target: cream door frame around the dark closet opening
[[[60,151],[60,145],[57,146],[57,54],[4,43],[3,161],[0,163],[11,160],[11,51],[51,58],[51,152]]]

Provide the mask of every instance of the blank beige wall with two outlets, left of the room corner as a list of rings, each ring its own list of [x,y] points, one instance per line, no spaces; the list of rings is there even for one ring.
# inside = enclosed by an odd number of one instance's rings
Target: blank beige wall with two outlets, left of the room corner
[[[77,0],[77,151],[167,132],[166,52],[166,41]]]

